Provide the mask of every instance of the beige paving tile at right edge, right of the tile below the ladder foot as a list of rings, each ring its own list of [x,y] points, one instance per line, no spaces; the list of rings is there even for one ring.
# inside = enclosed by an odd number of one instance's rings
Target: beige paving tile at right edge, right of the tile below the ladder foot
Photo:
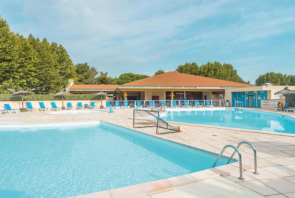
[[[283,178],[262,179],[260,181],[280,193],[289,193],[295,191],[295,185]]]

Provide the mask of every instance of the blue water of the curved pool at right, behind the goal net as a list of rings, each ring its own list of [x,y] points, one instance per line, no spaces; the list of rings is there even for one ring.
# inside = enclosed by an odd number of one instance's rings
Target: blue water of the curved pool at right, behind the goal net
[[[225,126],[260,131],[295,133],[295,118],[277,113],[225,108],[197,111],[168,111],[165,121]]]

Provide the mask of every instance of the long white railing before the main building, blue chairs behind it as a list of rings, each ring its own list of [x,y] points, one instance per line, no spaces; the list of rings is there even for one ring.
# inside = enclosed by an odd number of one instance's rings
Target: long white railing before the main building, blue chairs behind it
[[[109,100],[106,102],[110,102],[110,105],[114,107],[123,107],[124,102],[126,105],[126,101],[127,101],[127,106],[130,106],[130,104],[133,103],[135,108],[142,107],[142,106],[146,106],[150,108],[154,106],[173,107],[173,106],[179,106],[180,103],[182,105],[186,105],[186,104],[191,106],[196,105],[196,100]],[[206,100],[197,100],[197,101],[199,101],[199,104],[202,106],[208,105],[206,103]],[[213,105],[216,107],[222,106],[222,100],[207,100],[207,101],[209,101],[210,105]]]

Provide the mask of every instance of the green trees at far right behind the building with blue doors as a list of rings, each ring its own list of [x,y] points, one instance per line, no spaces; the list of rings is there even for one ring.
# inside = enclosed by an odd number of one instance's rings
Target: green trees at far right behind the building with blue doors
[[[271,83],[273,85],[295,85],[295,75],[267,72],[255,80],[255,85],[257,86],[265,83]]]

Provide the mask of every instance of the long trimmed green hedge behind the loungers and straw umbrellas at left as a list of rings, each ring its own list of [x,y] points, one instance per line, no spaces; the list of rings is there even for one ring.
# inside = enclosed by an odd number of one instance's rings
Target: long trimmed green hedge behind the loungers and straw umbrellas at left
[[[100,95],[94,94],[75,94],[75,95],[64,95],[64,100],[100,100]],[[102,96],[102,99],[105,100],[106,96]],[[10,94],[0,94],[0,101],[16,101],[22,100],[21,95],[12,96]],[[24,100],[62,100],[61,95],[27,95],[24,96]]]

